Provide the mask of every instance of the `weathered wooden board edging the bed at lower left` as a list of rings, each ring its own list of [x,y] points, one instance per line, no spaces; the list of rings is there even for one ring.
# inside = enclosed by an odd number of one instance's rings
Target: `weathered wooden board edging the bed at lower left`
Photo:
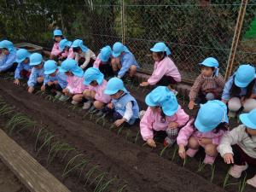
[[[0,129],[0,158],[31,192],[70,192]]]

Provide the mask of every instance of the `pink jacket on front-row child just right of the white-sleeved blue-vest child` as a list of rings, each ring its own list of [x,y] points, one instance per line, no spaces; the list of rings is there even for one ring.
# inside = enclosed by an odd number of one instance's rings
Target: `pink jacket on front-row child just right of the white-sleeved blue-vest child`
[[[140,123],[141,135],[143,140],[147,141],[148,138],[154,137],[154,131],[166,131],[171,122],[176,122],[179,127],[182,127],[188,120],[189,115],[180,106],[177,109],[177,113],[171,117],[166,116],[166,122],[161,122],[160,112],[154,112],[148,107]]]

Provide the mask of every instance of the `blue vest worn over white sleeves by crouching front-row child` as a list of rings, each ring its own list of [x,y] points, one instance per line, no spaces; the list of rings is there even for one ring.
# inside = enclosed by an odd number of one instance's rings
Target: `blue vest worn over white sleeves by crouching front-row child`
[[[132,102],[132,112],[133,116],[128,121],[130,125],[134,124],[135,120],[138,119],[139,116],[139,107],[137,105],[137,101],[133,96],[130,95],[130,93],[125,93],[125,95],[121,96],[119,99],[113,99],[113,108],[116,112],[118,112],[120,115],[125,115],[125,106],[128,102]]]

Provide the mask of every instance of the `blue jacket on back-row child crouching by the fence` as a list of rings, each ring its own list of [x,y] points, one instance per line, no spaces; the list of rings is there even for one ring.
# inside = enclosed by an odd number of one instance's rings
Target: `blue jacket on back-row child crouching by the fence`
[[[125,52],[125,55],[121,56],[120,63],[122,66],[118,74],[120,78],[125,75],[131,65],[135,65],[137,68],[139,68],[137,61],[135,60],[135,57],[131,52]]]

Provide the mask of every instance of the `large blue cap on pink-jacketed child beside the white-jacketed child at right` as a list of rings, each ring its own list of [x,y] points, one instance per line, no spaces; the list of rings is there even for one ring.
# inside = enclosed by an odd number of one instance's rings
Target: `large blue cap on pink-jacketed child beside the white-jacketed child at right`
[[[201,108],[195,119],[195,127],[198,131],[212,131],[222,122],[229,123],[227,106],[224,102],[212,100],[201,104]]]

